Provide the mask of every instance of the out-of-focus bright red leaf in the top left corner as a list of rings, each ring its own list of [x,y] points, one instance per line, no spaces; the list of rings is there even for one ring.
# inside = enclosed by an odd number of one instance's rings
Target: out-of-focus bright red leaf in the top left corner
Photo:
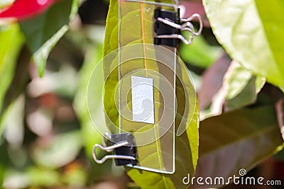
[[[54,4],[56,0],[16,0],[2,10],[0,10],[0,18],[16,18],[23,20],[35,16],[45,11]]]

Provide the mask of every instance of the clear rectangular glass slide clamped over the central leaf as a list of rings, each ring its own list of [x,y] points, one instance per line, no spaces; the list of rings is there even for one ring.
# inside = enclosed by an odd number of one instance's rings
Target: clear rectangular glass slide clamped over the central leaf
[[[175,47],[153,45],[156,8],[177,11],[165,2],[119,1],[118,132],[136,140],[134,168],[174,173],[177,57]]]

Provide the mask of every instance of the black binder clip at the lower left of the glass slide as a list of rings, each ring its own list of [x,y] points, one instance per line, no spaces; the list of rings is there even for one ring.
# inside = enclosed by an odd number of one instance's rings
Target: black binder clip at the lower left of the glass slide
[[[94,161],[97,162],[97,164],[103,164],[104,161],[107,161],[107,159],[114,159],[116,166],[135,166],[137,164],[136,145],[135,139],[132,134],[109,134],[108,132],[106,132],[104,134],[104,138],[109,139],[109,141],[112,142],[112,146],[107,147],[105,141],[103,141],[103,145],[94,144],[92,156]],[[114,155],[107,155],[99,160],[96,156],[97,147],[107,152],[114,151]]]

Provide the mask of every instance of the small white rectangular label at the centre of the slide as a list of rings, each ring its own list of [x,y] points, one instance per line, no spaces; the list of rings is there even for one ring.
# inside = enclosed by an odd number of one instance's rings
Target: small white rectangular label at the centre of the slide
[[[131,89],[133,121],[154,124],[153,79],[131,76]]]

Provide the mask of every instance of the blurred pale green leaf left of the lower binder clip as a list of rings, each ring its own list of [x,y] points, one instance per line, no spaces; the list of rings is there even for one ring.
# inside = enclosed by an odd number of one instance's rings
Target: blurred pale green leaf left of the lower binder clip
[[[36,164],[59,168],[74,161],[82,149],[82,134],[79,130],[57,134],[48,142],[38,141],[32,150]]]

